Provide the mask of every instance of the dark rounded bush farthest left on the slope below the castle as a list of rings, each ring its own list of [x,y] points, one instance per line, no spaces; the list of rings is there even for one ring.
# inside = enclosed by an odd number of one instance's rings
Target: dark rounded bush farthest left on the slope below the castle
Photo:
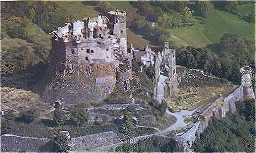
[[[17,119],[24,123],[31,123],[34,122],[35,119],[39,117],[39,115],[40,114],[38,110],[32,109],[21,113]]]

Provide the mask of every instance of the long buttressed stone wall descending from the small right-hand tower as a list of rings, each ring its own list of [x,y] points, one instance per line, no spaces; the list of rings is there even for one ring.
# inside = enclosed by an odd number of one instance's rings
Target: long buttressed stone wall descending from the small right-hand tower
[[[190,147],[195,142],[196,138],[205,131],[213,118],[221,119],[226,117],[226,113],[234,114],[236,112],[235,102],[243,101],[243,86],[238,86],[227,97],[219,96],[216,100],[205,109],[199,118],[199,121],[192,126],[186,133],[175,138],[177,141],[177,151],[190,152]]]

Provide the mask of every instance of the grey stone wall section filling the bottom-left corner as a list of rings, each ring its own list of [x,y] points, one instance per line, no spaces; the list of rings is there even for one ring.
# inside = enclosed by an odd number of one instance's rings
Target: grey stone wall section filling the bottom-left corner
[[[30,138],[12,134],[1,134],[1,152],[39,152],[48,143],[48,138]]]

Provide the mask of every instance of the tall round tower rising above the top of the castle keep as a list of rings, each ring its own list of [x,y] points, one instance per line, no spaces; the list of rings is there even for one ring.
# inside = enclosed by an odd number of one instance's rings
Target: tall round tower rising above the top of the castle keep
[[[126,39],[126,12],[116,9],[109,11],[108,14],[111,33]]]

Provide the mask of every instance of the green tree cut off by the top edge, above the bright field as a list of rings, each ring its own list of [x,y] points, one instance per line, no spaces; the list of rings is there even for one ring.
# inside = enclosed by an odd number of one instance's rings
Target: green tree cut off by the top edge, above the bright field
[[[195,2],[195,10],[203,18],[207,18],[207,14],[210,8],[211,8],[211,2],[209,1]]]

